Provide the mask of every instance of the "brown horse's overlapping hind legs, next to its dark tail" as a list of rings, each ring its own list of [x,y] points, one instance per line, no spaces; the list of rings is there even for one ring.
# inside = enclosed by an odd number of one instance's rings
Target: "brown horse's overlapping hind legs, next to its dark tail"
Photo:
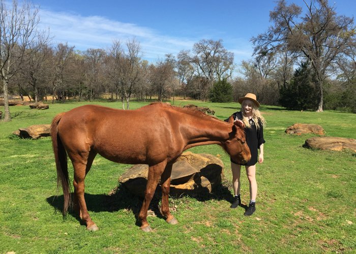
[[[84,199],[84,180],[92,166],[95,155],[95,153],[88,153],[86,162],[83,156],[80,156],[79,158],[71,158],[74,168],[74,206],[76,210],[79,210],[79,216],[85,222],[86,229],[90,231],[97,231],[99,228],[91,219],[86,208]]]

